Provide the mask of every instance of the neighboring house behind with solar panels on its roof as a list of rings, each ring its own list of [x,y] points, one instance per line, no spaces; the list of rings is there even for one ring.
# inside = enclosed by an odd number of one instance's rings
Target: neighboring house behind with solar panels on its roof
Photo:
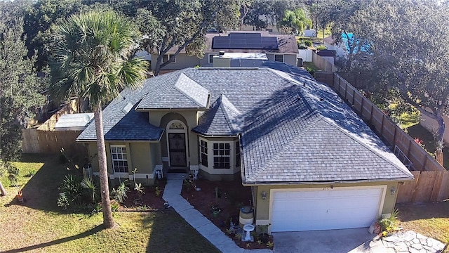
[[[163,56],[165,63],[174,57],[177,48],[171,48]],[[220,51],[225,53],[265,53],[268,60],[278,61],[296,66],[297,42],[295,36],[286,34],[270,34],[269,32],[226,32],[207,33],[206,48],[204,57],[187,56],[183,49],[175,57],[175,62],[166,65],[162,70],[181,70],[186,67],[212,67],[213,56],[217,56]],[[156,67],[157,56],[152,55],[152,69]]]

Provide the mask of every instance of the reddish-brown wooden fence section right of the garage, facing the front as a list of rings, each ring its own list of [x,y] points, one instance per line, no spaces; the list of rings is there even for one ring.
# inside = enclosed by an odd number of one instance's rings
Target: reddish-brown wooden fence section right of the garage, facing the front
[[[414,181],[399,185],[397,203],[433,202],[449,198],[449,171],[412,171]]]

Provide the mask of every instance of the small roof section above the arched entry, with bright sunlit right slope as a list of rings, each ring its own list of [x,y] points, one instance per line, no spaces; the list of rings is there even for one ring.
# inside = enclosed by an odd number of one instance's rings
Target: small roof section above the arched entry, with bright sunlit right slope
[[[185,74],[172,74],[158,84],[160,89],[145,96],[138,105],[138,110],[206,108],[208,105],[209,91]]]

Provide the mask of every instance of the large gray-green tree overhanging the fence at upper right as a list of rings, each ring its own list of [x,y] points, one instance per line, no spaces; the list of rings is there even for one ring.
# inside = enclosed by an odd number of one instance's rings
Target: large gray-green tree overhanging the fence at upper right
[[[431,0],[366,1],[333,23],[335,34],[350,31],[369,44],[366,54],[350,58],[347,70],[369,74],[373,87],[395,89],[422,114],[436,119],[436,149],[441,152],[442,115],[449,105],[448,5]]]

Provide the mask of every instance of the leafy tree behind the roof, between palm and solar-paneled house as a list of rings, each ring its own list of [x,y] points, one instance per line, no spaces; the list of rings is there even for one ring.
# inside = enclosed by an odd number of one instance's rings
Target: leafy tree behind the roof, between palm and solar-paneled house
[[[135,20],[142,34],[142,48],[157,55],[156,74],[185,50],[190,56],[203,56],[208,27],[236,28],[244,0],[142,1],[123,8]],[[136,8],[135,11],[133,8]],[[135,13],[135,14],[134,14]],[[177,48],[165,63],[163,56]]]

